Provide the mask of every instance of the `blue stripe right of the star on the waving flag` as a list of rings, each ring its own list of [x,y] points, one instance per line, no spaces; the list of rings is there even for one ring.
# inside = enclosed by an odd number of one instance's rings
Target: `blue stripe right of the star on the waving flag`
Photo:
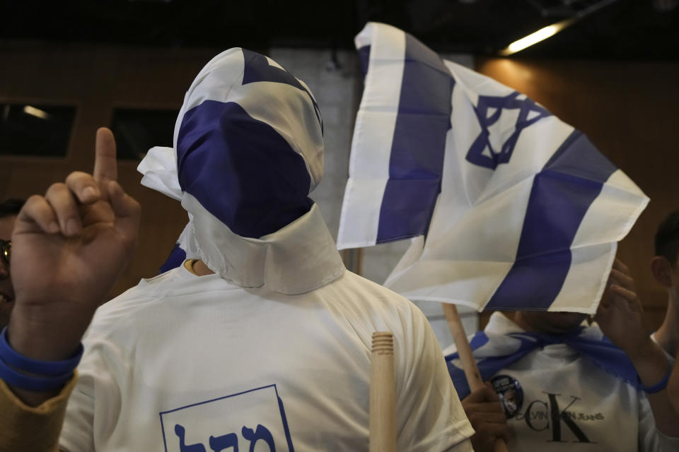
[[[516,261],[484,309],[547,309],[571,266],[587,209],[617,168],[574,131],[535,175]]]

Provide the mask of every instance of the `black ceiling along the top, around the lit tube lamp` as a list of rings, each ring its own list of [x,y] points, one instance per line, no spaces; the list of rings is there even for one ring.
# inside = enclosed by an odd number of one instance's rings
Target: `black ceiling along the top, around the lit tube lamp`
[[[378,20],[438,52],[495,54],[545,25],[582,16],[517,56],[679,61],[678,5],[679,0],[2,0],[0,40],[352,49],[364,23]]]

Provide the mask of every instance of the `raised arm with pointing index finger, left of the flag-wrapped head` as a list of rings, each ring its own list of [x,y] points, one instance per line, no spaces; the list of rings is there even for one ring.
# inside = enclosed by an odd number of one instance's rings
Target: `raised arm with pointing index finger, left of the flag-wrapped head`
[[[45,196],[29,198],[19,213],[12,234],[16,304],[8,344],[23,357],[56,362],[73,356],[95,310],[129,260],[140,208],[116,181],[115,141],[111,131],[99,129],[93,174],[69,174]],[[59,435],[71,385],[49,391],[8,388],[16,398],[3,398],[0,413],[16,417],[32,408],[52,410],[31,429],[13,432],[11,423],[0,423],[0,450],[25,451],[22,441],[28,436],[42,438],[42,450],[48,450],[56,444],[54,435]],[[61,419],[56,432],[49,427],[55,418]]]

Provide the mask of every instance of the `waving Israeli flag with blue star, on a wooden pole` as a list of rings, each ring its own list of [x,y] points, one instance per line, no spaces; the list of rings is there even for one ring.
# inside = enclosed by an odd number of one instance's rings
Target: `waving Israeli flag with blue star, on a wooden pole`
[[[338,248],[412,238],[385,285],[482,309],[596,311],[648,198],[501,83],[368,23]]]

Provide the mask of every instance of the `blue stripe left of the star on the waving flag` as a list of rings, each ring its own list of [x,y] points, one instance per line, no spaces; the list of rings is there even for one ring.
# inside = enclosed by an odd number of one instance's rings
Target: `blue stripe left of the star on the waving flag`
[[[377,243],[426,233],[451,128],[455,81],[441,58],[406,34],[404,62]]]

